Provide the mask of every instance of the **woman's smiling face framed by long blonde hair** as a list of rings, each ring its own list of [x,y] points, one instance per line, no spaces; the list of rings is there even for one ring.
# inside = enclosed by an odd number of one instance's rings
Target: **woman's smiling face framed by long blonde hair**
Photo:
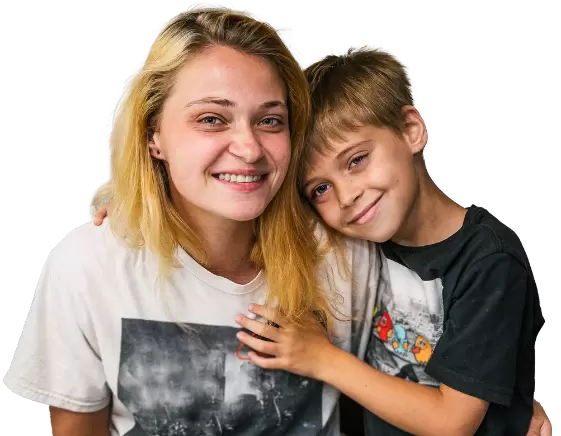
[[[266,60],[217,46],[180,71],[150,153],[191,219],[249,221],[278,192],[290,161],[287,93]]]

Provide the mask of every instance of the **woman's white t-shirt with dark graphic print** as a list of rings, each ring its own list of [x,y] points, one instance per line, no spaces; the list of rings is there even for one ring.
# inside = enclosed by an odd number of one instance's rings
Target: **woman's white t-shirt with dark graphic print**
[[[336,322],[333,341],[362,359],[379,254],[363,241],[347,244],[353,281],[333,253],[321,277],[355,318]],[[112,436],[338,435],[337,390],[244,359],[234,317],[263,302],[264,274],[239,285],[182,250],[178,258],[162,288],[157,257],[124,246],[108,220],[72,230],[45,261],[8,389],[76,412],[112,401]]]

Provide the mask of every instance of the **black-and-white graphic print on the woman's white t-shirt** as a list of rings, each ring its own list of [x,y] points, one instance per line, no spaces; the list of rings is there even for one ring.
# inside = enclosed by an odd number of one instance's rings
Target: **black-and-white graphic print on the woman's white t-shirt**
[[[264,370],[228,326],[123,319],[117,395],[126,436],[318,435],[322,384]]]

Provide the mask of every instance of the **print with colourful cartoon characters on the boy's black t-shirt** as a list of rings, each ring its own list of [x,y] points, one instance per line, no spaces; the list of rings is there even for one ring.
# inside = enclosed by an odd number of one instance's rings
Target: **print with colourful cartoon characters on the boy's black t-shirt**
[[[442,280],[423,281],[404,265],[383,261],[366,360],[386,374],[438,386],[424,366],[442,335]]]

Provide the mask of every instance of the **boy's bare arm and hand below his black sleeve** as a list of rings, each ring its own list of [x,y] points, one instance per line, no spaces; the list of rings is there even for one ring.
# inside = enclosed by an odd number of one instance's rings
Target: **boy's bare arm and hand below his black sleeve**
[[[436,389],[384,374],[331,344],[313,321],[300,329],[263,306],[252,304],[249,310],[280,326],[275,329],[243,315],[236,317],[242,327],[274,341],[238,333],[238,339],[253,350],[275,356],[260,357],[250,351],[258,366],[330,384],[390,424],[418,435],[473,435],[485,416],[485,401],[445,386]]]

